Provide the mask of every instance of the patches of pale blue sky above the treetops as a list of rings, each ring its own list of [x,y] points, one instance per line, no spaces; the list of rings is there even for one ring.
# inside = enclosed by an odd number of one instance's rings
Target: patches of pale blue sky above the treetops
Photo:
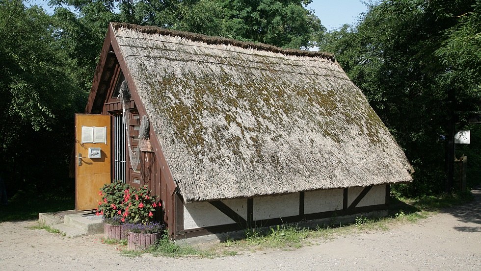
[[[48,0],[31,0],[30,3],[41,5],[49,13]],[[312,8],[328,30],[339,28],[344,24],[354,24],[360,13],[367,11],[361,0],[313,0],[308,8]]]

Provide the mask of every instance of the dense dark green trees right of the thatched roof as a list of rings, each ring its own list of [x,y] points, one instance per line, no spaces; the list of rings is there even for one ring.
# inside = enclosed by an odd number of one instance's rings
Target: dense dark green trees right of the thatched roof
[[[443,190],[440,136],[454,112],[478,110],[480,18],[479,0],[383,1],[321,41],[415,167],[408,194]]]

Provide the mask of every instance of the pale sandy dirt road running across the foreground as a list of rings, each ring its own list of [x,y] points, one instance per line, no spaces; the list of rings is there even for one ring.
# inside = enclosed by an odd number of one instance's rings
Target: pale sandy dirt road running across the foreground
[[[129,258],[100,235],[65,239],[0,223],[0,270],[481,270],[481,191],[467,205],[417,224],[338,237],[294,251],[246,252],[215,259]]]

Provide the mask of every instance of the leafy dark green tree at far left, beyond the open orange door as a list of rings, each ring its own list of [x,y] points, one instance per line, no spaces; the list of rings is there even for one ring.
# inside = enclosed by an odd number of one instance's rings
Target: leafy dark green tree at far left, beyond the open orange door
[[[66,142],[85,93],[54,31],[41,8],[0,1],[0,174],[7,189],[18,189],[27,179],[30,186],[50,187],[68,172]],[[63,171],[45,178],[59,165]]]

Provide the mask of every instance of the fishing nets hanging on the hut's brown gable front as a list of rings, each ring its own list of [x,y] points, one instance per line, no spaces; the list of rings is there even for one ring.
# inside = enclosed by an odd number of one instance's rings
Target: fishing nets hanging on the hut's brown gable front
[[[126,138],[127,138],[127,145],[129,146],[129,157],[130,157],[130,165],[132,166],[132,169],[134,171],[137,170],[138,168],[138,163],[140,161],[140,148],[145,147],[147,143],[147,139],[149,138],[149,119],[147,116],[143,115],[141,122],[140,122],[140,128],[139,128],[139,141],[138,145],[136,148],[132,149],[132,146],[130,144],[130,137],[129,137],[129,107],[128,107],[128,102],[131,99],[131,94],[129,91],[129,87],[127,86],[127,81],[124,80],[122,84],[120,85],[120,93],[119,97],[122,101],[122,111],[124,114],[124,123],[125,123],[125,133],[126,133]],[[118,98],[117,98],[118,99]]]

